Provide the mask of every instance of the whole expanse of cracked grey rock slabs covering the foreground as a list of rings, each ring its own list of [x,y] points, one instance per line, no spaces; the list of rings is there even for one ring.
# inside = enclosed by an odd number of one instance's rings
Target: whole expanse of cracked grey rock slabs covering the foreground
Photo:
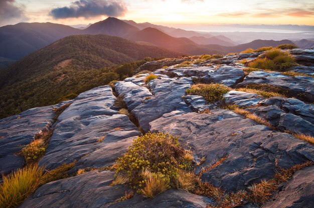
[[[261,53],[235,54],[191,67],[161,67],[153,62],[153,79],[148,74],[118,81],[114,87],[101,86],[55,106],[33,108],[0,120],[0,170],[3,174],[24,166],[17,154],[34,137],[53,131],[39,165],[47,170],[76,161],[69,177],[42,185],[20,207],[206,207],[212,198],[184,190],[169,189],[153,198],[135,194],[121,201],[127,185],[111,186],[112,166],[142,133],[165,132],[178,135],[191,149],[201,179],[226,192],[244,190],[263,179],[271,179],[281,168],[314,161],[313,144],[295,134],[314,136],[314,50],[291,50],[300,64],[291,71],[251,71],[239,60],[253,60]],[[169,62],[169,61],[168,61]],[[163,63],[162,63],[163,64]],[[169,63],[167,63],[169,64]],[[174,62],[174,64],[177,64]],[[165,64],[164,64],[165,65]],[[149,63],[145,65],[147,69]],[[157,66],[157,67],[156,67]],[[231,88],[221,102],[208,103],[199,95],[186,95],[195,80],[221,83]],[[239,91],[250,84],[281,87],[290,97],[266,98]],[[122,96],[123,95],[123,96]],[[117,98],[117,96],[119,96]],[[119,112],[123,99],[132,118]],[[260,116],[271,124],[254,120],[223,108],[234,105]],[[69,105],[59,116],[56,109]],[[134,119],[135,118],[135,119]],[[214,168],[206,168],[225,158]],[[91,169],[77,174],[80,169]],[[202,169],[203,168],[203,169]],[[205,170],[205,171],[204,171]],[[314,166],[298,170],[279,185],[271,200],[261,207],[314,207]],[[246,204],[246,207],[258,207]]]

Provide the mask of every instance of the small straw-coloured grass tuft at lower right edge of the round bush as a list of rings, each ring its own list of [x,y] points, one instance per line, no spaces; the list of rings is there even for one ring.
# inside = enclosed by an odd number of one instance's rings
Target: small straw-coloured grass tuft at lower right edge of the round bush
[[[195,174],[192,172],[181,171],[174,179],[175,187],[186,191],[194,190],[196,182]]]

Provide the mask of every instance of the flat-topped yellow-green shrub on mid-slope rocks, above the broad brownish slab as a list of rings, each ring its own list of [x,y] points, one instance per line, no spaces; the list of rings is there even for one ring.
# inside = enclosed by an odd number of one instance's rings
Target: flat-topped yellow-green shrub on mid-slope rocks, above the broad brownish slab
[[[229,92],[229,88],[222,84],[195,84],[186,90],[188,95],[200,95],[210,103],[223,100],[223,95]]]

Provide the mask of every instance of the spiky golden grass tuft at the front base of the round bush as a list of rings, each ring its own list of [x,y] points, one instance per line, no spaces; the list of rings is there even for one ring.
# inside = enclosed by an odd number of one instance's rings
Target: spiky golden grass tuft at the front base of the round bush
[[[141,189],[145,197],[153,196],[164,192],[169,187],[169,182],[162,178],[159,174],[147,173],[145,178],[145,187]]]

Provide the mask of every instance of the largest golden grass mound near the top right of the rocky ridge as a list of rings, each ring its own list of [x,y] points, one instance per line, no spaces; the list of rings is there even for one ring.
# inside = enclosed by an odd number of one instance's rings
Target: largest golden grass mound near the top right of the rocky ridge
[[[294,58],[280,49],[271,49],[265,52],[264,58],[257,58],[248,64],[251,68],[267,69],[274,71],[285,71],[295,66]]]

